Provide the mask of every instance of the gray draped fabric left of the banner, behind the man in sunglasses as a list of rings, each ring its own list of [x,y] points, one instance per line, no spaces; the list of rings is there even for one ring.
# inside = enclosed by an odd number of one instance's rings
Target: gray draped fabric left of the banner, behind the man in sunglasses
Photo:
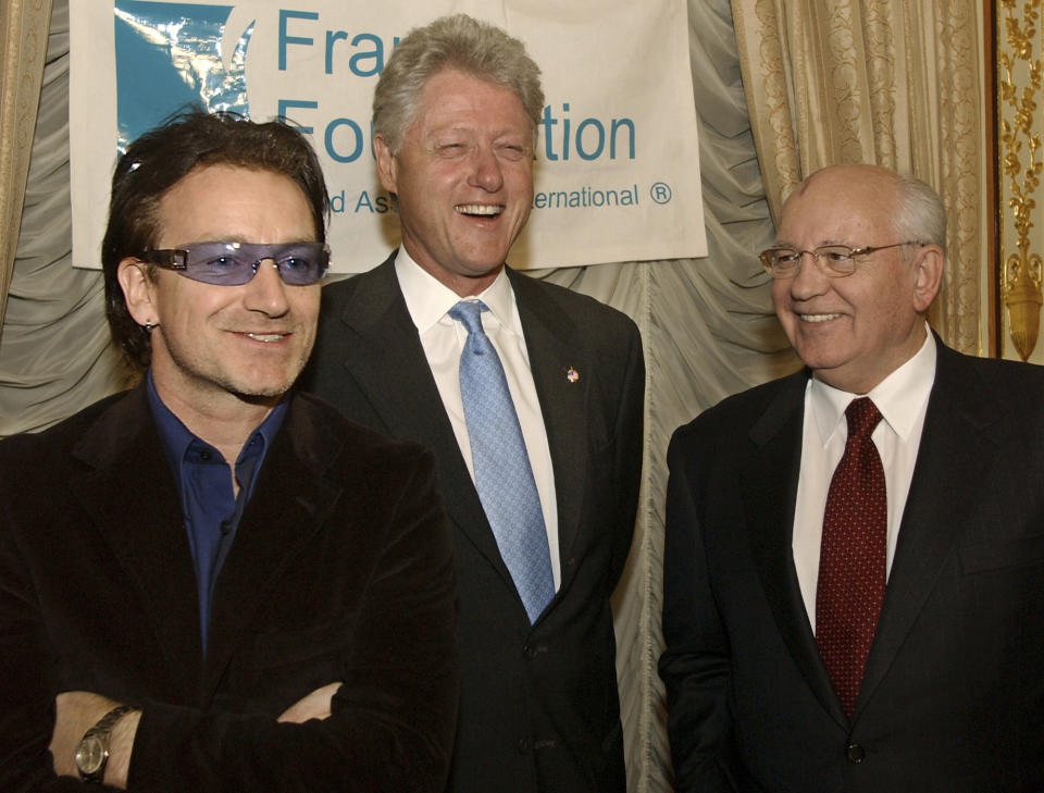
[[[44,429],[123,387],[128,375],[105,324],[101,273],[71,264],[69,0],[53,0],[50,16],[0,335],[0,436]]]

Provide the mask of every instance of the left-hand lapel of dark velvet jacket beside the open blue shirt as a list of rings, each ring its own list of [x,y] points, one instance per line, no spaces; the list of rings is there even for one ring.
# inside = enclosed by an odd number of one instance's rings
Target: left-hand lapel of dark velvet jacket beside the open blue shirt
[[[116,401],[84,434],[74,456],[92,467],[71,484],[133,582],[154,635],[156,656],[190,697],[201,659],[196,573],[170,466],[144,387]],[[189,652],[186,652],[189,648]],[[195,652],[191,652],[195,649]]]

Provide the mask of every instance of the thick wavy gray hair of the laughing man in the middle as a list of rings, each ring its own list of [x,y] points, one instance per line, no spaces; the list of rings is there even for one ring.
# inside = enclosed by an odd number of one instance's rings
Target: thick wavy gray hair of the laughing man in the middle
[[[455,14],[410,30],[381,73],[373,92],[373,132],[393,154],[417,119],[427,80],[446,69],[514,91],[536,135],[544,91],[539,66],[525,45],[495,25]]]

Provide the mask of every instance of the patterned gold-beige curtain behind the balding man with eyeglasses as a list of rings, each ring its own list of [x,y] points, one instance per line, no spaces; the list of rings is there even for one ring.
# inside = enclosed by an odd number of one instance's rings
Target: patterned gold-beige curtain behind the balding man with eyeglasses
[[[942,196],[947,268],[930,319],[982,351],[984,158],[975,0],[732,0],[747,108],[773,218],[824,165],[868,162]]]

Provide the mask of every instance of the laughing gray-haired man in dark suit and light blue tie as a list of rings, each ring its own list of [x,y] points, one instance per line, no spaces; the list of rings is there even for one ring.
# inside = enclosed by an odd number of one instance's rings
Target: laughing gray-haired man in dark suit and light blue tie
[[[543,104],[536,64],[496,27],[460,15],[399,42],[373,143],[402,247],[324,288],[304,376],[350,419],[438,460],[460,592],[449,790],[622,793],[609,596],[637,504],[644,361],[626,317],[505,265],[533,202]],[[467,311],[510,392],[493,433],[468,396]],[[511,467],[498,458],[509,445],[523,449]],[[527,520],[505,516],[490,480],[519,485]],[[513,561],[523,537],[529,572]]]

